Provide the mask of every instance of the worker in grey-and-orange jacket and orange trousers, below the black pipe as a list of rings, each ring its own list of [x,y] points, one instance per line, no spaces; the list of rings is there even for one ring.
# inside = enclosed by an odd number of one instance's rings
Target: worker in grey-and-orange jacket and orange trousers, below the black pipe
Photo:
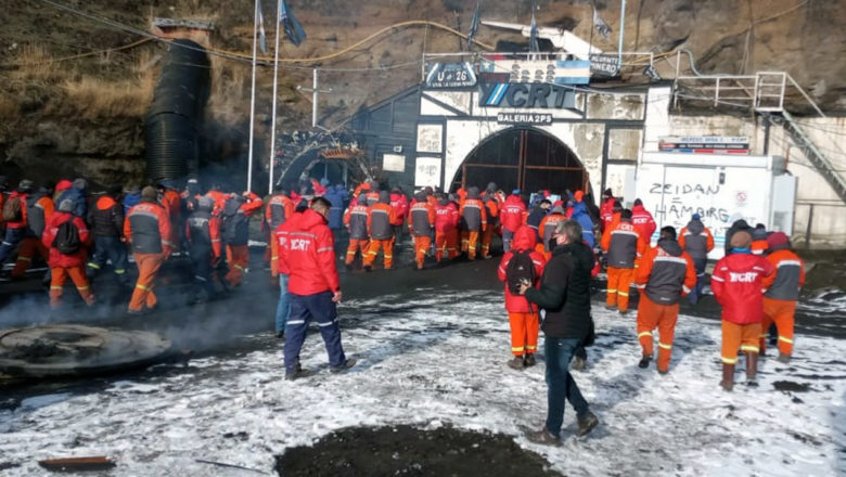
[[[156,274],[174,249],[170,238],[170,218],[158,203],[158,192],[148,185],[141,190],[141,202],[129,209],[124,220],[124,236],[131,244],[138,266],[138,282],[129,300],[129,314],[140,314],[144,307],[154,310],[157,304],[153,292]]]

